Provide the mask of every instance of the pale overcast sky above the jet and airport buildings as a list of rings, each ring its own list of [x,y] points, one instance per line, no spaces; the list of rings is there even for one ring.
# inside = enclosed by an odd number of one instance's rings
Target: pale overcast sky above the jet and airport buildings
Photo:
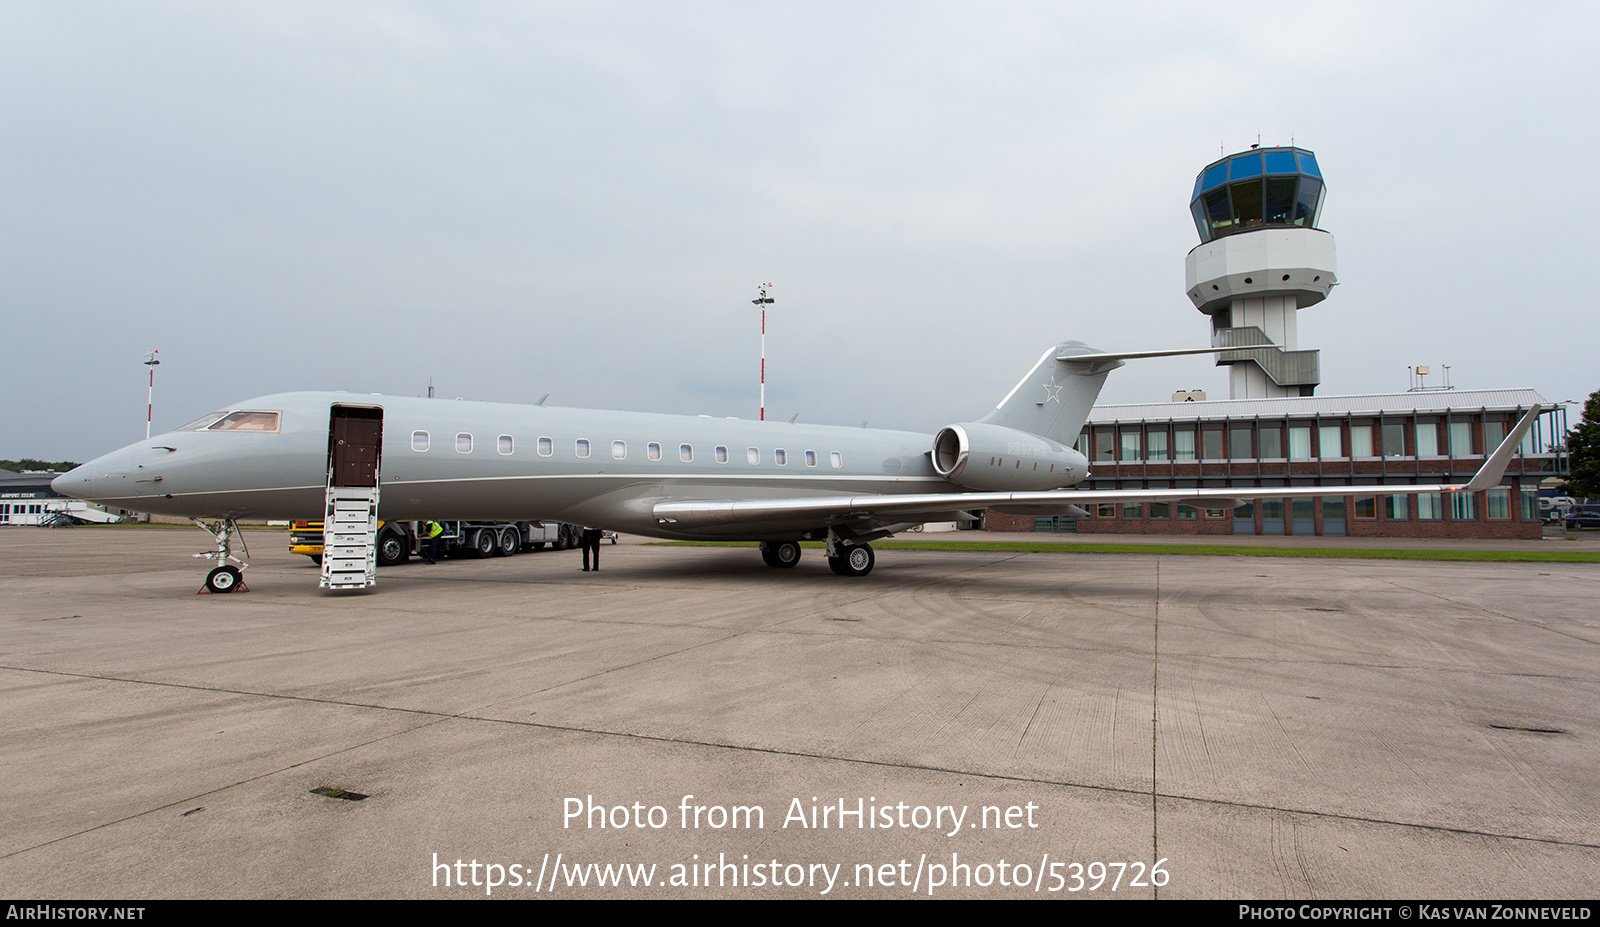
[[[1195,173],[1294,144],[1320,394],[1581,400],[1600,6],[0,2],[0,456],[347,389],[933,431],[1208,344]],[[1434,378],[1438,379],[1437,376]],[[1226,397],[1144,360],[1102,402]],[[1576,411],[1573,413],[1576,423]]]

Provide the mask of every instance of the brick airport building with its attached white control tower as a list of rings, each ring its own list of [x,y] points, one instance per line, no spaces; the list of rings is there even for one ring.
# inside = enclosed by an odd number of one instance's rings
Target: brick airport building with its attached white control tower
[[[1320,352],[1302,349],[1298,312],[1338,283],[1333,235],[1317,227],[1326,186],[1299,147],[1238,152],[1195,178],[1189,301],[1211,323],[1229,399],[1101,405],[1078,450],[1080,488],[1283,487],[1237,509],[1130,503],[1088,517],[989,512],[990,530],[1173,535],[1538,538],[1539,488],[1568,471],[1565,408],[1533,389],[1413,389],[1317,395]],[[1198,399],[1198,400],[1197,400]],[[1294,487],[1466,482],[1530,407],[1539,416],[1499,487],[1483,493],[1296,496]]]

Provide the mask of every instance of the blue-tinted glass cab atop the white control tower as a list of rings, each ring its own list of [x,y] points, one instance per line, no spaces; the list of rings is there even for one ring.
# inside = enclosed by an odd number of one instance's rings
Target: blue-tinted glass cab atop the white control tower
[[[1202,242],[1272,226],[1315,229],[1325,192],[1317,155],[1259,147],[1208,163],[1195,176],[1189,213]]]

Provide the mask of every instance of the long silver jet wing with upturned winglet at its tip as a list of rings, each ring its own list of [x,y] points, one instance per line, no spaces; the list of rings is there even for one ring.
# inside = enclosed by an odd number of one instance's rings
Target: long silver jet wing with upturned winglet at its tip
[[[1533,427],[1541,408],[1533,407],[1506,435],[1478,472],[1466,484],[1349,485],[1349,487],[1222,487],[1165,490],[1050,490],[1032,493],[910,493],[810,496],[774,500],[672,500],[654,504],[656,520],[680,530],[717,530],[746,525],[757,528],[890,525],[933,520],[928,516],[973,509],[1048,511],[1102,503],[1189,503],[1195,508],[1229,509],[1251,500],[1285,496],[1374,496],[1416,493],[1482,492],[1498,485],[1522,437]]]

